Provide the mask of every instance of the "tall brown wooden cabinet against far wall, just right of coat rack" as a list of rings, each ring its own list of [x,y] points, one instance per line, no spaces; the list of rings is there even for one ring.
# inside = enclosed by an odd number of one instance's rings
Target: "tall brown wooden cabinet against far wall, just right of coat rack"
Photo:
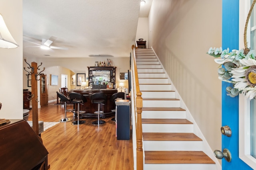
[[[40,75],[40,105],[48,105],[47,75]]]

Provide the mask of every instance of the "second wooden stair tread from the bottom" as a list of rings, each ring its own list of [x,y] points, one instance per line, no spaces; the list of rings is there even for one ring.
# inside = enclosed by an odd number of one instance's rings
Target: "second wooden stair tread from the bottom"
[[[202,141],[194,133],[142,133],[143,141]]]

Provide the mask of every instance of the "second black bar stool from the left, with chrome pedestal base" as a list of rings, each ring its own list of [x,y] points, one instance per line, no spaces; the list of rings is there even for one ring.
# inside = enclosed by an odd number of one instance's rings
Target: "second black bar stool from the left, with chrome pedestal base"
[[[77,107],[77,121],[73,121],[72,125],[79,125],[79,124],[85,123],[85,121],[79,120],[80,113],[85,113],[85,111],[80,111],[80,104],[83,105],[85,102],[87,102],[87,99],[82,94],[76,93],[76,92],[71,92],[69,94],[69,98],[70,98],[70,102],[72,102],[73,104],[76,104],[76,103],[78,104],[78,107]]]

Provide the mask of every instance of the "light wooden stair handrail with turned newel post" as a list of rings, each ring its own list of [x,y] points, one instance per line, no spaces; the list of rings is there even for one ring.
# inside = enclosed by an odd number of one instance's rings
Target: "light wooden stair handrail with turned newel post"
[[[136,112],[137,112],[137,121],[136,121],[136,154],[137,154],[137,170],[143,170],[143,149],[142,149],[142,93],[140,92],[139,79],[138,79],[138,71],[136,64],[136,56],[135,56],[135,45],[132,45],[133,51],[133,60],[134,60],[134,75],[135,75],[135,84],[136,84]]]

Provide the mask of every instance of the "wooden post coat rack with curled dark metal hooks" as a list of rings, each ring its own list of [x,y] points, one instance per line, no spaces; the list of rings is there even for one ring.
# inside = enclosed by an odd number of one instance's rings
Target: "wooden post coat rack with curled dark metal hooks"
[[[27,63],[26,59],[24,59],[24,61]],[[31,75],[31,98],[30,98],[30,100],[32,101],[32,125],[33,125],[33,130],[36,133],[36,135],[39,135],[39,131],[38,131],[38,102],[39,101],[38,101],[38,94],[37,94],[37,81],[40,80],[40,78],[38,79],[37,77],[44,70],[42,70],[39,73],[35,72],[35,71],[40,70],[39,67],[41,65],[42,65],[42,63],[39,66],[37,66],[36,62],[32,62],[31,66],[30,66],[30,64],[28,64],[28,69],[31,69],[31,71],[27,71],[26,68],[24,67],[24,70],[26,72],[28,72],[28,74],[26,74],[26,76],[29,77],[29,75]],[[36,70],[35,70],[35,68],[36,68]],[[44,69],[45,69],[45,67],[44,67]]]

